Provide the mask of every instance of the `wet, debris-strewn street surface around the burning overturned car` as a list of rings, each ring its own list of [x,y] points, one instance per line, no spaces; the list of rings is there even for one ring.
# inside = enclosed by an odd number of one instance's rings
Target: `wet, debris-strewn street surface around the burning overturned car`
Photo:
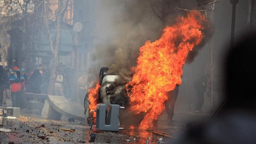
[[[162,143],[169,144],[182,138],[189,126],[199,122],[207,122],[210,115],[176,112],[174,113],[173,122],[166,120],[166,117],[167,114],[164,112],[158,120],[158,128],[148,131],[141,131],[136,127],[134,130],[124,127],[123,130],[118,132],[109,132],[95,131],[95,126],[89,129],[86,122],[77,120],[68,122],[68,117],[65,116],[62,116],[61,120],[50,120],[43,118],[37,110],[33,114],[32,110],[24,113],[22,109],[21,116],[16,119],[0,117],[0,129],[11,130],[10,132],[0,131],[0,144],[8,144],[8,142],[14,142],[14,144],[145,144],[147,140],[149,140],[149,143],[156,144],[160,138],[162,138]],[[66,131],[65,129],[74,129],[74,132]],[[152,131],[155,133],[152,133]],[[89,142],[90,133],[96,135],[95,142]],[[167,137],[156,133],[164,133]]]

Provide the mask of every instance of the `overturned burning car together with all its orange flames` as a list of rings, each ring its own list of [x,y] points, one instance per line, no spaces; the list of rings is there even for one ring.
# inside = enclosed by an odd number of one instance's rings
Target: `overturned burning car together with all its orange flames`
[[[211,33],[210,23],[201,13],[178,17],[175,24],[163,30],[158,40],[146,41],[139,48],[137,65],[131,68],[133,76],[130,81],[124,78],[117,83],[118,78],[122,79],[121,75],[108,74],[108,68],[101,68],[100,83],[89,89],[89,108],[95,110],[98,100],[107,105],[124,104],[125,112],[119,112],[120,125],[126,120],[126,124],[139,122],[139,129],[154,127],[154,120],[165,109],[168,92],[182,83],[182,68],[188,54],[193,52],[194,56],[198,49],[192,51],[193,48],[200,48],[206,42],[203,40],[205,35]]]

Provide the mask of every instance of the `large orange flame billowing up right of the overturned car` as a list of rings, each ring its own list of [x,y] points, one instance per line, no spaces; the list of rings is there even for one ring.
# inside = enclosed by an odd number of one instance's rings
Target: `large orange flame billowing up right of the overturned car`
[[[167,92],[181,84],[187,54],[204,38],[203,24],[207,23],[204,15],[190,12],[165,28],[160,39],[147,41],[140,48],[137,66],[132,68],[135,74],[126,85],[132,85],[130,109],[146,113],[139,129],[153,126],[152,120],[156,120],[165,108]]]

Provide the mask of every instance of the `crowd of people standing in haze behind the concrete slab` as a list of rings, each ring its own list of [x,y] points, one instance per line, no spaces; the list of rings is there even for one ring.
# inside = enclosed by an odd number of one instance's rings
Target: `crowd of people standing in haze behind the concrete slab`
[[[65,66],[58,66],[56,74],[51,76],[50,70],[41,65],[34,70],[0,65],[0,106],[9,98],[13,107],[20,107],[22,92],[48,94],[50,79],[54,80],[54,95],[82,105],[91,79],[85,71],[79,75]]]

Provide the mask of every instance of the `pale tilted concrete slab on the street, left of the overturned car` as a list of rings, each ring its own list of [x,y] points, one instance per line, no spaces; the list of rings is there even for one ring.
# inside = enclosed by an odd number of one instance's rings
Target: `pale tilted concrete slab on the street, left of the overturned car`
[[[77,103],[69,102],[64,96],[48,95],[42,110],[42,116],[48,119],[60,120],[61,114],[84,121],[84,109]]]

